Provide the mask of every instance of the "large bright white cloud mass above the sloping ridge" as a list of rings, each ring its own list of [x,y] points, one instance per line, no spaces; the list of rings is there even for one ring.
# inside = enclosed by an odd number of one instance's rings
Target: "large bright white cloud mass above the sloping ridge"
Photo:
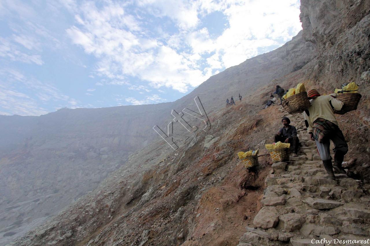
[[[66,30],[68,36],[98,59],[95,75],[106,78],[96,85],[128,85],[130,90],[138,90],[127,79],[135,77],[157,89],[186,92],[229,66],[284,44],[301,29],[297,0],[105,1],[99,7],[70,1],[67,7],[76,20]],[[218,35],[200,25],[213,11],[228,21]],[[170,34],[166,27],[171,25],[178,31]]]

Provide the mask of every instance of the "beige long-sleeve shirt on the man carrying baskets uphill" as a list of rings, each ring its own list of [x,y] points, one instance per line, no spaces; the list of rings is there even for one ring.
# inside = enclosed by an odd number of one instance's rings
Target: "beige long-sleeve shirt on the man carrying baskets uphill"
[[[334,110],[341,110],[343,102],[336,98],[333,98],[330,95],[327,95],[311,99],[310,103],[311,106],[308,108],[309,115],[307,115],[306,112],[303,112],[303,115],[305,116],[307,131],[309,133],[313,131],[312,123],[317,118],[323,118],[338,125],[337,119],[334,116]]]

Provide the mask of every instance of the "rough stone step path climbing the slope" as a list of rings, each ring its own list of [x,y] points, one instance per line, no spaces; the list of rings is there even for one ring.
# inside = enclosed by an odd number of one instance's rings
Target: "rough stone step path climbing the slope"
[[[297,127],[299,155],[272,165],[263,208],[238,246],[370,245],[370,197],[359,181],[345,174],[336,174],[336,180],[324,178],[326,171],[302,115],[286,116]]]

